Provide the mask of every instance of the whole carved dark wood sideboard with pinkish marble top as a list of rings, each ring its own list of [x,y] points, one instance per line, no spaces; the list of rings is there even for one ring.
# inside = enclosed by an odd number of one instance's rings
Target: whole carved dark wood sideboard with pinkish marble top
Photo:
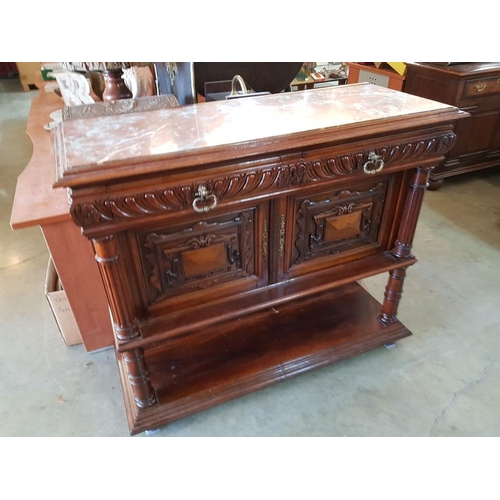
[[[457,108],[370,84],[76,119],[132,434],[410,335],[397,319]],[[357,280],[388,272],[382,304]]]

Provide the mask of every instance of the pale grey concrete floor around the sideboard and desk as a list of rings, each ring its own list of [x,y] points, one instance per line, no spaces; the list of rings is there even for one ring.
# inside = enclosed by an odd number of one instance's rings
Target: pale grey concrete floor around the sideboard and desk
[[[36,92],[0,80],[0,436],[128,436],[112,350],[65,346],[44,296],[42,234],[9,225]],[[153,435],[500,435],[500,170],[426,193],[414,249],[399,311],[413,336]],[[362,284],[381,300],[385,282]]]

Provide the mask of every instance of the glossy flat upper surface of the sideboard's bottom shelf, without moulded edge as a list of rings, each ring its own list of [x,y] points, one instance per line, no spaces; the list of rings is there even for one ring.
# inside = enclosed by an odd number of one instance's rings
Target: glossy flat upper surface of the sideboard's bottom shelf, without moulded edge
[[[151,379],[160,402],[193,392],[213,395],[221,385],[236,386],[238,393],[238,386],[249,379],[285,379],[323,361],[341,358],[347,350],[349,355],[356,354],[353,337],[360,350],[365,342],[373,343],[377,333],[375,342],[380,343],[386,328],[376,319],[379,308],[380,304],[357,284],[276,305],[252,315],[245,328],[232,321],[201,330],[174,346],[167,342],[159,349],[147,349]],[[332,352],[326,354],[330,349]]]

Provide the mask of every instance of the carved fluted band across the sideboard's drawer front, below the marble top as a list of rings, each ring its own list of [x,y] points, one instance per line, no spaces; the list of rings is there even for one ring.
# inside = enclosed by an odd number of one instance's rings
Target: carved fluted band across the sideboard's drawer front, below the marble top
[[[385,165],[389,165],[395,162],[442,155],[451,149],[455,138],[454,134],[448,133],[417,142],[377,148],[375,153],[382,157]],[[301,186],[322,179],[362,172],[368,155],[367,150],[311,162],[240,172],[208,180],[205,185],[218,200],[231,199],[240,195],[264,194],[280,188]],[[71,207],[71,215],[78,225],[88,227],[113,220],[182,210],[192,204],[197,190],[198,183],[94,202],[76,202]]]

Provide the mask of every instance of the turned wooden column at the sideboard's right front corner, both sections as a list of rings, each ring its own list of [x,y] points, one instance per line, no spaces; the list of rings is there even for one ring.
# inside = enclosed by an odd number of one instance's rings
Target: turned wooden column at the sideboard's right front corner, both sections
[[[418,216],[422,208],[425,189],[427,188],[431,168],[417,168],[410,179],[410,192],[406,199],[403,217],[396,243],[391,253],[400,259],[413,257],[411,249],[417,229]],[[403,295],[403,283],[406,276],[406,267],[389,271],[389,279],[384,292],[384,302],[380,310],[379,319],[383,323],[397,321],[399,301]]]

